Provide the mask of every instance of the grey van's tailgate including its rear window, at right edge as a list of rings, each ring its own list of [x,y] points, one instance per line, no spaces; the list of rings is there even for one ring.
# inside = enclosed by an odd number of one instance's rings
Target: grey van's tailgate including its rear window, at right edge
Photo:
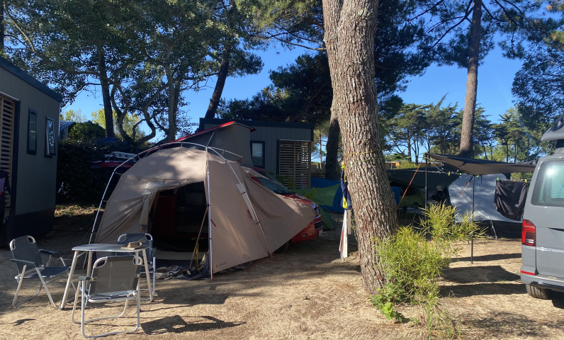
[[[564,159],[541,164],[524,218],[536,227],[538,273],[564,278]]]

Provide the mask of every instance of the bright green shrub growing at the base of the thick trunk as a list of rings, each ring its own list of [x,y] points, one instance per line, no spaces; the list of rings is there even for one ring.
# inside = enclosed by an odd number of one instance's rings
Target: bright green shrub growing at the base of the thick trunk
[[[372,297],[373,304],[387,317],[400,320],[395,305],[407,302],[422,307],[429,334],[456,333],[448,312],[439,306],[438,280],[451,258],[460,254],[460,242],[483,237],[469,215],[455,222],[455,208],[431,205],[425,210],[421,229],[400,227],[396,234],[376,240],[377,266],[387,283]],[[430,240],[427,240],[429,236]]]

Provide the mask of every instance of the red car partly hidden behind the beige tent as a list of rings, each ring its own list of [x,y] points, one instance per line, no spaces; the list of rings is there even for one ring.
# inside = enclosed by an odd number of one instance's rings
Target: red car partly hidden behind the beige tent
[[[308,198],[300,196],[297,193],[293,193],[289,191],[285,186],[283,186],[282,183],[280,183],[276,178],[268,174],[263,169],[259,169],[259,168],[244,168],[244,169],[251,169],[256,173],[258,173],[259,175],[264,176],[264,177],[252,177],[252,179],[257,183],[261,183],[262,186],[269,189],[273,193],[285,196],[287,198],[291,198],[293,200],[299,200],[300,202],[308,204],[317,213],[317,215],[310,222],[308,227],[305,227],[301,232],[298,232],[298,234],[292,237],[290,241],[286,242],[286,244],[284,244],[276,251],[274,251],[276,254],[281,254],[284,251],[286,251],[286,249],[288,249],[288,246],[290,246],[291,242],[303,242],[303,241],[308,241],[310,239],[317,239],[317,237],[320,237],[320,235],[323,232],[323,218],[320,215],[320,207],[319,205],[317,205],[317,203],[313,202],[312,200],[308,200]]]

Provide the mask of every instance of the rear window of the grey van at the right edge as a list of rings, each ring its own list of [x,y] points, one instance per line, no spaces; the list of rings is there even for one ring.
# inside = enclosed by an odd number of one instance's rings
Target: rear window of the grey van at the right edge
[[[564,207],[564,162],[541,165],[531,204]]]

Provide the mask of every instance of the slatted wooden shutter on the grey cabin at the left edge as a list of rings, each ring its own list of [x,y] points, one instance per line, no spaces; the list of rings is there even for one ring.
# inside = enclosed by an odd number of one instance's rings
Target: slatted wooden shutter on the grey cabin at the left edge
[[[0,168],[8,172],[10,186],[12,186],[13,159],[13,118],[16,114],[16,103],[0,96],[1,128],[0,128]],[[9,215],[11,196],[6,193],[6,210],[4,216]]]

